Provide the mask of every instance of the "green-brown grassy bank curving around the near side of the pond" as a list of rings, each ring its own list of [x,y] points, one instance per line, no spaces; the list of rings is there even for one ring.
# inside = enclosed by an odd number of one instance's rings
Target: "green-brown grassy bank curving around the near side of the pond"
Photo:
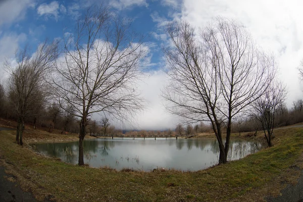
[[[0,164],[16,176],[11,180],[39,200],[260,201],[295,183],[303,169],[301,128],[275,131],[274,147],[197,172],[118,172],[73,166],[16,145],[11,133],[0,131]]]

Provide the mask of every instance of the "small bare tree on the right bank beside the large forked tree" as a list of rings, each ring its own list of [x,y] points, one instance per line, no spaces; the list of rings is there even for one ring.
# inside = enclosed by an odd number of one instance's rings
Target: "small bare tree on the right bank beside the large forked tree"
[[[276,112],[286,97],[286,88],[282,83],[273,83],[265,94],[256,100],[253,116],[260,121],[268,146],[272,146],[272,134]]]

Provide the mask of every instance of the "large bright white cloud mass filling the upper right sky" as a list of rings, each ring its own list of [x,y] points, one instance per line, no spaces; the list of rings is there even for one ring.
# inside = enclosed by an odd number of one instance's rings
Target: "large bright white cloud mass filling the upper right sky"
[[[172,2],[165,0],[167,4]],[[303,58],[303,2],[298,0],[184,0],[175,17],[186,20],[195,27],[208,25],[217,16],[235,19],[242,23],[265,51],[275,54],[280,67],[279,77],[287,84],[288,107],[302,97],[296,68]],[[152,16],[160,25],[165,19]]]

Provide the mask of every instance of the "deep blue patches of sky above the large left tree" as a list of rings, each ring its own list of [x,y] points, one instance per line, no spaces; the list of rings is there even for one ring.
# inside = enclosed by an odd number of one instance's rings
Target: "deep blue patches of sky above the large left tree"
[[[8,21],[0,20],[0,38],[8,35],[19,36],[18,47],[30,45],[35,47],[37,43],[45,38],[53,40],[63,38],[65,32],[73,32],[75,20],[83,15],[87,7],[98,5],[100,1],[34,1],[24,0],[26,5],[16,13],[15,18]],[[5,7],[10,1],[0,3],[0,7]],[[11,1],[18,4],[18,1]],[[12,4],[12,3],[11,3]],[[149,44],[151,51],[151,63],[154,69],[159,69],[161,58],[161,28],[158,26],[160,19],[170,19],[176,9],[161,1],[109,1],[105,3],[110,6],[111,11],[116,15],[132,19],[132,29],[144,34],[144,42]],[[10,6],[10,5],[9,5]],[[8,14],[9,10],[7,9]],[[0,10],[1,11],[1,10]],[[13,53],[13,51],[11,51]],[[7,54],[9,55],[9,54]],[[11,55],[9,55],[11,56]]]

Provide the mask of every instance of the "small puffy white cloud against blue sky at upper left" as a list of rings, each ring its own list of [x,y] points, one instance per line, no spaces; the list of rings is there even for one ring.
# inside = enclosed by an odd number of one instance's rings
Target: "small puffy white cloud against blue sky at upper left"
[[[66,8],[63,5],[59,5],[58,2],[44,3],[37,8],[38,15],[46,18],[53,16],[56,20],[59,18],[59,11],[66,13]]]

